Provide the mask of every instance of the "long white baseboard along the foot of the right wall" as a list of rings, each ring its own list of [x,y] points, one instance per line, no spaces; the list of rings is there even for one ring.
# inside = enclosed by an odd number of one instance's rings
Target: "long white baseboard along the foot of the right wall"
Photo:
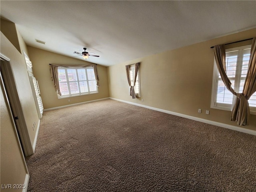
[[[160,111],[160,112],[164,112],[164,113],[168,113],[168,114],[171,114],[171,115],[184,117],[184,118],[199,121],[199,122],[204,122],[204,123],[211,124],[211,125],[216,125],[216,126],[223,127],[223,128],[236,130],[236,131],[243,132],[243,133],[248,133],[248,134],[251,134],[251,135],[256,135],[256,131],[254,131],[254,130],[249,130],[249,129],[245,129],[245,128],[241,128],[241,127],[237,127],[237,126],[232,126],[232,125],[219,123],[219,122],[215,122],[215,121],[210,121],[210,120],[206,120],[206,119],[202,119],[202,118],[198,118],[198,117],[184,115],[184,114],[181,114],[181,113],[176,113],[176,112],[172,112],[172,111],[168,111],[168,110],[164,110],[164,109],[160,109],[160,108],[155,108],[155,107],[150,107],[150,106],[146,106],[146,105],[142,105],[142,104],[128,102],[128,101],[125,101],[125,100],[120,100],[120,99],[116,99],[116,98],[112,98],[112,97],[110,97],[110,99],[120,101],[120,102],[124,102],[124,103],[128,103],[128,104],[132,104],[132,105],[136,105],[136,106],[140,106],[140,107],[144,107],[144,108],[148,108],[148,109],[152,109],[152,110],[156,110],[156,111]]]

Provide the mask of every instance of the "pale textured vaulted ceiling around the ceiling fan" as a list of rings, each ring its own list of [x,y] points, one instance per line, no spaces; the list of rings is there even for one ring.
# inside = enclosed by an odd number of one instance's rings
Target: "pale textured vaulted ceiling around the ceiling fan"
[[[104,66],[256,27],[256,1],[1,0],[0,8],[29,46],[70,57],[86,47],[100,55],[88,61]]]

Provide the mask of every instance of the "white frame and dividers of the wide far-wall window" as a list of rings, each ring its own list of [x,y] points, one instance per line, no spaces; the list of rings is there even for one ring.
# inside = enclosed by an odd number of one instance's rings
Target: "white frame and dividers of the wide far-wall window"
[[[74,93],[74,94],[71,94],[71,91],[70,91],[70,84],[69,84],[69,79],[68,79],[68,72],[67,70],[68,69],[71,69],[71,68],[67,68],[67,67],[58,67],[58,70],[59,69],[62,69],[62,70],[65,70],[65,74],[66,74],[66,82],[68,84],[68,92],[69,92],[69,95],[62,95],[60,96],[59,94],[58,95],[58,99],[63,99],[63,98],[70,98],[70,97],[76,97],[76,96],[83,96],[83,95],[90,95],[90,94],[97,94],[98,93],[98,87],[96,86],[96,91],[90,91],[90,86],[89,86],[89,81],[95,81],[95,84],[97,83],[95,78],[94,80],[88,80],[88,74],[87,74],[87,69],[88,68],[92,68],[94,70],[93,67],[83,67],[83,68],[72,68],[72,69],[75,69],[76,70],[76,77],[77,77],[77,80],[76,81],[71,81],[71,82],[78,82],[78,90],[79,90],[79,93]],[[85,70],[85,73],[86,73],[86,80],[79,80],[78,78],[78,69],[84,69]],[[81,93],[80,91],[80,84],[79,82],[84,82],[86,81],[87,83],[87,87],[88,87],[88,92],[84,92],[84,93]]]

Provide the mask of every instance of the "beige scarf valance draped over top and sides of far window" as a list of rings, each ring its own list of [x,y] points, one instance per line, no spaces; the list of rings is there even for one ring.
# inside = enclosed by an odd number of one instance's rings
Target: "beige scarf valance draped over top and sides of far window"
[[[89,67],[92,66],[94,69],[94,76],[96,80],[96,86],[99,86],[99,78],[98,78],[98,71],[97,71],[97,65],[96,64],[88,64],[88,65],[60,65],[60,64],[49,64],[50,65],[50,72],[51,72],[51,78],[54,82],[54,88],[57,91],[59,95],[61,95],[60,92],[60,84],[59,84],[59,78],[58,78],[58,67],[68,67],[68,68],[83,68],[83,67]]]

